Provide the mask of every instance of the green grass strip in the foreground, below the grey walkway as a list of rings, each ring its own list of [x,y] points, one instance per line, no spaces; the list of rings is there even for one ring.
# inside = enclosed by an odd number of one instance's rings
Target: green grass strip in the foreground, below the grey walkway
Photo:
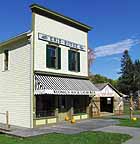
[[[16,138],[0,134],[0,144],[121,144],[131,136],[104,132],[83,132],[75,135],[47,134],[31,138]]]

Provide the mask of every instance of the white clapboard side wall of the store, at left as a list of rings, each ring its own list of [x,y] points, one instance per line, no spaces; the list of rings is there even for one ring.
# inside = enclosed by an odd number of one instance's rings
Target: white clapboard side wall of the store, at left
[[[20,43],[20,44],[19,44]],[[9,111],[10,124],[31,127],[31,47],[19,42],[9,49],[9,70],[4,71],[4,49],[0,49],[0,112]],[[0,122],[5,117],[0,115]]]

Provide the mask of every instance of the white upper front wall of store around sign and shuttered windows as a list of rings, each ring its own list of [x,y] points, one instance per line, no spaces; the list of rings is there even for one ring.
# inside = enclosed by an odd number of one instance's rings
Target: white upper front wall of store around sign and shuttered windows
[[[85,51],[80,52],[80,72],[68,70],[69,47],[60,45],[61,48],[61,69],[46,68],[46,41],[38,40],[38,33],[47,34],[85,46]],[[53,19],[35,14],[35,70],[47,71],[77,76],[88,76],[87,65],[87,33],[68,26]]]

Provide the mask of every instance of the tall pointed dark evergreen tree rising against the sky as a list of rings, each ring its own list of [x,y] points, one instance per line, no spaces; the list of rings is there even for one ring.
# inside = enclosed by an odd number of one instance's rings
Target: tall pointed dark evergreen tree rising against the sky
[[[129,94],[130,91],[134,92],[134,65],[128,50],[125,50],[122,56],[120,74],[118,89],[124,94]]]

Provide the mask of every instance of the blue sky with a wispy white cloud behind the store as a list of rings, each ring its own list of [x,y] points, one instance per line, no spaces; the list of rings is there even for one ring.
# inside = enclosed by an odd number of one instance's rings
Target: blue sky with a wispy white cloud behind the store
[[[117,79],[120,59],[129,50],[140,59],[140,0],[1,0],[0,42],[31,29],[29,5],[37,3],[93,27],[93,74]]]

